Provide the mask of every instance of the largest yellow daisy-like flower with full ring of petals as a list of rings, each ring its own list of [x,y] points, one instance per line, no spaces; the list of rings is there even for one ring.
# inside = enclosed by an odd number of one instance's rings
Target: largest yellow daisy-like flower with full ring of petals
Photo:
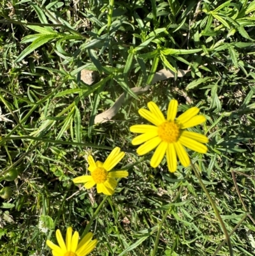
[[[175,119],[178,107],[177,100],[171,100],[169,103],[167,119],[164,118],[156,103],[149,102],[148,107],[150,111],[139,109],[138,112],[142,117],[154,124],[154,126],[136,124],[130,127],[130,131],[143,133],[132,140],[133,145],[139,145],[145,142],[136,150],[138,154],[147,154],[157,147],[150,160],[152,167],[156,168],[159,166],[165,153],[170,172],[175,172],[177,169],[177,156],[184,167],[189,166],[190,160],[184,146],[198,153],[207,153],[207,146],[201,144],[208,142],[205,135],[184,131],[186,128],[205,122],[206,119],[204,116],[197,116],[200,111],[197,107],[192,107],[177,119]]]

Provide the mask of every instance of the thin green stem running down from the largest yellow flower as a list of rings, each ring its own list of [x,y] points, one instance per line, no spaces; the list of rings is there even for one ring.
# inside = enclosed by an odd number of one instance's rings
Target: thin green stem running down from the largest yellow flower
[[[217,206],[215,205],[214,203],[214,200],[212,199],[212,197],[210,196],[207,188],[205,187],[205,184],[203,184],[203,181],[200,177],[200,173],[198,172],[198,170],[196,170],[196,167],[194,167],[193,163],[191,162],[191,167],[192,169],[194,170],[194,173],[196,174],[196,177],[198,178],[198,181],[200,182],[200,186],[203,188],[203,191],[206,193],[209,201],[210,201],[210,204],[212,205],[212,207],[214,208],[214,213],[217,217],[217,219],[219,220],[219,223],[221,223],[221,228],[224,232],[224,235],[226,237],[226,241],[228,243],[228,248],[230,250],[230,256],[233,256],[233,249],[232,249],[232,246],[231,246],[231,241],[230,241],[230,236],[228,234],[228,230],[226,229],[226,226],[221,218],[221,215],[219,214],[219,211],[217,209]]]

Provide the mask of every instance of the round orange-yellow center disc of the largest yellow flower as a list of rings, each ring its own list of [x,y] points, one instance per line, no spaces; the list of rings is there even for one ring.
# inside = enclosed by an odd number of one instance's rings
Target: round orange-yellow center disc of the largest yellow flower
[[[177,123],[166,121],[157,127],[159,138],[164,142],[173,143],[179,139],[180,126]]]

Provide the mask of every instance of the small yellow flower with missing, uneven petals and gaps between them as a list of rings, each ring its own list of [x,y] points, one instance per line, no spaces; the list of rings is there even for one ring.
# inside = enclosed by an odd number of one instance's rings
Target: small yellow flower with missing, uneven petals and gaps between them
[[[85,188],[92,188],[96,184],[98,193],[104,193],[105,195],[113,195],[114,189],[117,186],[117,181],[115,178],[118,177],[128,177],[128,172],[126,170],[115,170],[110,172],[110,170],[117,165],[117,163],[122,160],[125,153],[120,152],[119,147],[115,147],[113,151],[106,158],[105,163],[97,161],[95,163],[92,156],[88,157],[89,168],[91,176],[84,175],[76,177],[73,179],[74,183],[85,183]]]

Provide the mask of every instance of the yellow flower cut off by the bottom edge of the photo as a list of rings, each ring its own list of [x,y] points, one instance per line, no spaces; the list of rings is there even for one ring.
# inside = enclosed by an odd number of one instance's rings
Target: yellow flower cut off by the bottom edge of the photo
[[[86,234],[80,243],[78,243],[79,233],[75,231],[72,236],[72,231],[73,229],[69,227],[66,232],[66,243],[64,243],[60,230],[58,229],[56,231],[57,243],[59,243],[59,246],[55,245],[50,240],[46,241],[48,247],[52,249],[53,256],[85,256],[94,250],[98,240],[91,240],[93,236],[91,232]]]

